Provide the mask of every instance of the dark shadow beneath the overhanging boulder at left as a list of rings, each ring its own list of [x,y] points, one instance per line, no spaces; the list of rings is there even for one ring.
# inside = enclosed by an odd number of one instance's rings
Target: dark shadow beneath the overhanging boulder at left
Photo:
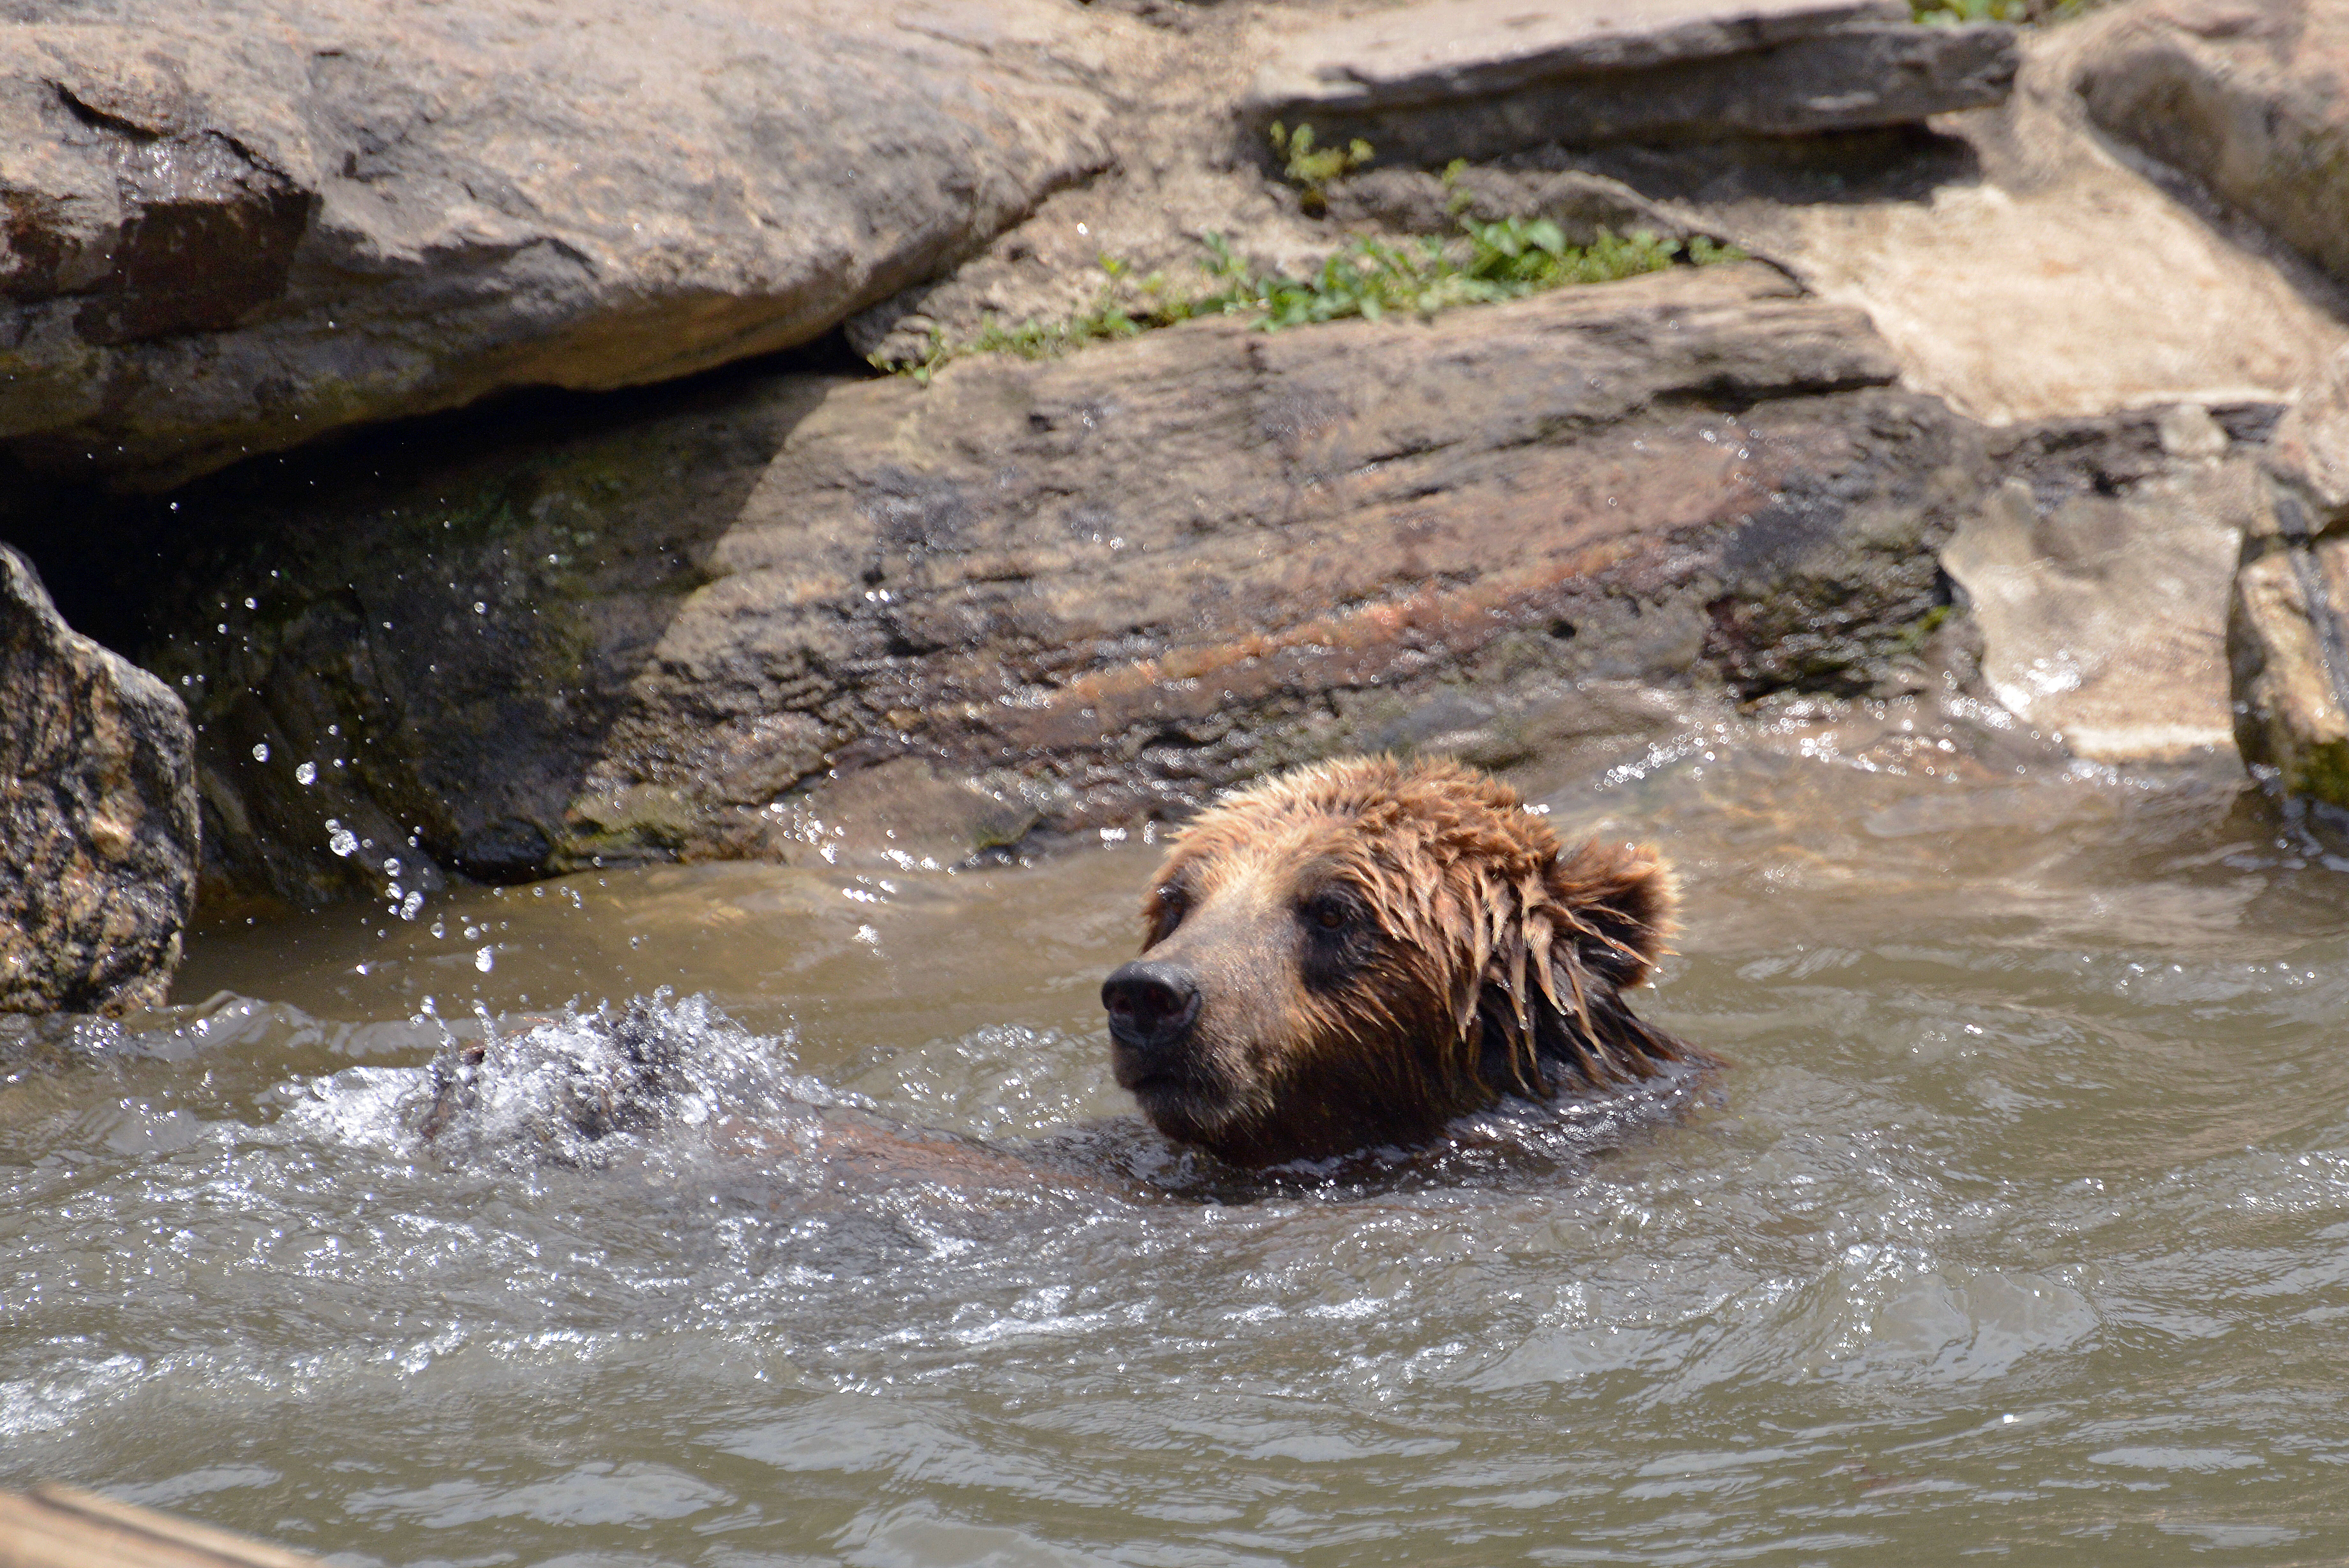
[[[630,682],[822,386],[785,362],[510,400],[35,548],[92,597],[155,583],[122,635],[195,717],[207,900],[411,907],[444,872],[571,865],[564,809]]]

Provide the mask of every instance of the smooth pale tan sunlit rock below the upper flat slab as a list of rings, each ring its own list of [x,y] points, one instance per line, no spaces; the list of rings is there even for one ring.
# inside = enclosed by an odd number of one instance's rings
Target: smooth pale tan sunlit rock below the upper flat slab
[[[2349,331],[2271,256],[2102,143],[2074,92],[2107,19],[2022,35],[2013,96],[1936,127],[1931,190],[1698,202],[1715,233],[1867,310],[1905,386],[1994,423],[2288,402]]]

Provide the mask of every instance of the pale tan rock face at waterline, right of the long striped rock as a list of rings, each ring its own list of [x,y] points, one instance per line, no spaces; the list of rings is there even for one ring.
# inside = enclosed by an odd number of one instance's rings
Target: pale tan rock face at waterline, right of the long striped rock
[[[2004,433],[1992,461],[2011,477],[1940,559],[1999,703],[2100,762],[2232,750],[2229,595],[2264,515],[2248,449],[2180,404]]]

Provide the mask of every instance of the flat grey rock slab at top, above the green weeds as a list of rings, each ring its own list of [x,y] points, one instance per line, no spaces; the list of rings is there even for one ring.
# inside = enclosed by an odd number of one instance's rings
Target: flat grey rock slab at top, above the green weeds
[[[2008,28],[1919,28],[1903,0],[1421,0],[1273,45],[1243,120],[1438,165],[1910,125],[2013,73]]]

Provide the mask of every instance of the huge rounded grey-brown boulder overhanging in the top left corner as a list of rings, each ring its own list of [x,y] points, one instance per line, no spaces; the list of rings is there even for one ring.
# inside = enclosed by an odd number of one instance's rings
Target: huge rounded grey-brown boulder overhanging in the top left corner
[[[136,487],[803,343],[1111,162],[1116,19],[1050,0],[38,16],[0,24],[0,442]]]

